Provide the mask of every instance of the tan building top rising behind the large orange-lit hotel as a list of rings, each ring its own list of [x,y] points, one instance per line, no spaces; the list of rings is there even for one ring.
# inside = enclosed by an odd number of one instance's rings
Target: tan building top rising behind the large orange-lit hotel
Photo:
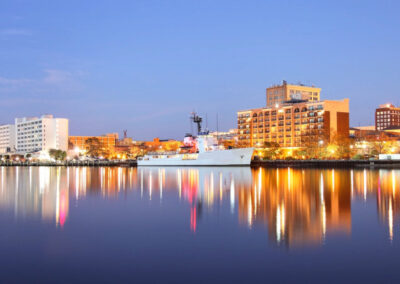
[[[267,106],[280,105],[292,99],[319,101],[320,92],[321,89],[314,86],[305,86],[303,84],[291,85],[283,81],[282,85],[274,85],[267,88]]]

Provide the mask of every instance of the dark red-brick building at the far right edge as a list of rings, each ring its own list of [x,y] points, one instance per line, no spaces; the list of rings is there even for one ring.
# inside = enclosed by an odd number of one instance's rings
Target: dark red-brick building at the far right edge
[[[400,127],[400,108],[392,104],[380,105],[375,110],[375,129]]]

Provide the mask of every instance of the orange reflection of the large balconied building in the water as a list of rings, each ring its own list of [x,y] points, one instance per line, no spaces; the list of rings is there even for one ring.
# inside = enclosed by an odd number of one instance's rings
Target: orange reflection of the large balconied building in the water
[[[258,169],[239,191],[239,220],[266,224],[270,239],[288,246],[321,243],[328,230],[351,230],[347,171]]]

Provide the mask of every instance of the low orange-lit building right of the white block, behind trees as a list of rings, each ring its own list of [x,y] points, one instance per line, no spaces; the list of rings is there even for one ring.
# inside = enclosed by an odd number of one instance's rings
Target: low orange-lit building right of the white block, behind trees
[[[117,133],[108,133],[101,136],[70,136],[68,139],[69,149],[76,151],[89,150],[89,139],[96,139],[99,141],[99,147],[113,152],[118,140]]]

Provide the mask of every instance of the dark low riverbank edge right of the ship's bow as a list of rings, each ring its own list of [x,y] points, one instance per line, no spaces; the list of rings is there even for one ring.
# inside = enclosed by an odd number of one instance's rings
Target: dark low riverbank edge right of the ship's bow
[[[252,167],[265,168],[400,168],[400,160],[262,160]]]

